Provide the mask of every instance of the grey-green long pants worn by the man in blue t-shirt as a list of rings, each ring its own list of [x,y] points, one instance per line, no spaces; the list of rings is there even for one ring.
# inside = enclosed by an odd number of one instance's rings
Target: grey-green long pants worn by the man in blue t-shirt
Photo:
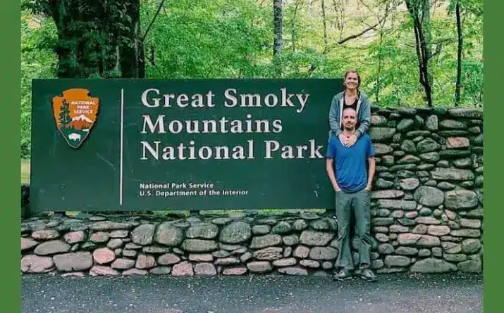
[[[338,243],[340,251],[336,268],[354,269],[352,249],[350,248],[350,216],[353,212],[359,245],[359,269],[369,267],[371,250],[369,191],[363,189],[356,193],[336,192],[336,218],[338,219]]]

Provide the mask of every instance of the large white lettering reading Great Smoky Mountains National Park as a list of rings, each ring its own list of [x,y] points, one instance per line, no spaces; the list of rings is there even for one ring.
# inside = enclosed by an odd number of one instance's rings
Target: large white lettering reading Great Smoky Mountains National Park
[[[152,98],[149,96],[154,94]],[[161,96],[161,97],[159,97]],[[293,99],[294,97],[294,99]],[[287,88],[283,87],[278,94],[238,94],[236,89],[226,89],[223,94],[223,103],[216,104],[215,94],[208,91],[207,94],[163,94],[159,89],[147,89],[142,93],[142,105],[147,108],[166,108],[166,113],[156,115],[154,121],[150,114],[142,115],[142,134],[279,134],[282,132],[282,120],[255,119],[254,109],[284,108],[293,109],[295,113],[302,113],[309,94],[288,94]],[[231,120],[222,116],[219,120],[170,120],[170,108],[190,108],[193,110],[204,108],[216,108],[222,106],[226,110],[233,108],[247,108],[252,114],[247,113],[242,120]],[[224,114],[226,110],[223,110]],[[202,114],[204,111],[202,111]],[[265,140],[262,158],[271,159],[279,156],[283,159],[292,158],[324,158],[321,152],[323,146],[315,144],[314,139],[309,139],[307,144],[298,146],[282,146],[277,140]],[[141,141],[142,158],[148,160],[242,160],[254,159],[254,139],[247,139],[246,143],[239,146],[195,146],[195,141],[179,143],[177,146],[165,146],[163,141]]]

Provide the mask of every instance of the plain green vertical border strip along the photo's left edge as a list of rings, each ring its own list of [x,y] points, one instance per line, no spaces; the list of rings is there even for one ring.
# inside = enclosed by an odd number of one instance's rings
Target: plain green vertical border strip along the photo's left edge
[[[4,312],[21,312],[20,259],[20,1],[2,1],[0,22],[2,33],[1,94],[2,120],[2,153],[0,162],[0,179],[2,200],[0,238],[2,241],[1,269]],[[19,272],[16,270],[19,269]]]

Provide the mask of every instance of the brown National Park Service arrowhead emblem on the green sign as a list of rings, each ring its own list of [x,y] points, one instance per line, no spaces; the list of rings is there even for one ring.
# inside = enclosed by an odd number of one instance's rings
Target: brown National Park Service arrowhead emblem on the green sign
[[[97,120],[99,98],[87,89],[68,89],[52,99],[56,127],[68,146],[79,148]]]

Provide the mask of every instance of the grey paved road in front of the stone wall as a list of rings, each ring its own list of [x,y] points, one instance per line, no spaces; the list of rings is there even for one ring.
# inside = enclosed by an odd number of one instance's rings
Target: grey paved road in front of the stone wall
[[[482,312],[479,275],[388,274],[380,281],[321,276],[224,278],[28,275],[23,313],[472,313]]]

